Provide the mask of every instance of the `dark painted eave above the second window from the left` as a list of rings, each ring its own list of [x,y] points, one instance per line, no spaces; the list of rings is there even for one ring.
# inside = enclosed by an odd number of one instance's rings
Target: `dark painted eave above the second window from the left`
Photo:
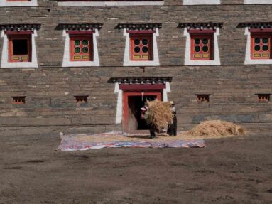
[[[60,23],[57,28],[66,31],[94,31],[95,29],[101,29],[102,26],[102,23]]]

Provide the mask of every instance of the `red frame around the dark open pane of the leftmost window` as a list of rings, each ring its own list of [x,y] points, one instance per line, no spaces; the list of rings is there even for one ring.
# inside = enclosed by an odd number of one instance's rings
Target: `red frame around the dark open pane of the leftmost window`
[[[31,34],[30,35],[9,35],[9,62],[31,62]],[[13,40],[27,40],[28,41],[28,54],[27,55],[14,55],[13,54]]]

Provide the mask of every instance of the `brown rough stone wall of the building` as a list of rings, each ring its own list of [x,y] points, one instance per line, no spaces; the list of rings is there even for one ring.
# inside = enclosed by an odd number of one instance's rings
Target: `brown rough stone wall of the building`
[[[226,119],[249,128],[268,129],[271,102],[258,102],[256,93],[272,92],[271,65],[244,65],[246,36],[241,22],[271,21],[271,5],[183,6],[56,6],[2,7],[0,23],[41,23],[36,38],[39,68],[0,68],[0,134],[46,134],[58,131],[99,132],[121,129],[115,124],[116,100],[110,77],[172,76],[169,100],[178,109],[179,129],[204,119]],[[236,4],[236,5],[232,5]],[[239,4],[239,5],[237,5]],[[174,6],[171,6],[174,5]],[[185,36],[180,22],[223,22],[220,29],[220,66],[185,66]],[[62,68],[64,38],[58,23],[103,23],[99,31],[99,67]],[[161,66],[123,67],[125,37],[118,23],[163,23],[157,38]],[[3,38],[0,41],[0,55]],[[198,103],[195,94],[210,94]],[[26,95],[26,104],[12,104],[12,96]],[[78,105],[75,95],[89,95]]]

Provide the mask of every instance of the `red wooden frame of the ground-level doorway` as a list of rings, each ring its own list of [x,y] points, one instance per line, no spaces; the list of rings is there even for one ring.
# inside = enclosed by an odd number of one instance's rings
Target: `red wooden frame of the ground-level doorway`
[[[145,96],[155,95],[158,100],[163,100],[163,90],[124,90],[123,92],[123,129],[129,130],[129,97],[141,96],[144,92]]]

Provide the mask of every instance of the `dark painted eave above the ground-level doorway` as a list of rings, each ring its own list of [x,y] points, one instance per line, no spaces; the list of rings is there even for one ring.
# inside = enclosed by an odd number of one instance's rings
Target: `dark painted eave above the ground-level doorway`
[[[121,84],[165,84],[172,82],[173,77],[111,77],[109,83]]]

